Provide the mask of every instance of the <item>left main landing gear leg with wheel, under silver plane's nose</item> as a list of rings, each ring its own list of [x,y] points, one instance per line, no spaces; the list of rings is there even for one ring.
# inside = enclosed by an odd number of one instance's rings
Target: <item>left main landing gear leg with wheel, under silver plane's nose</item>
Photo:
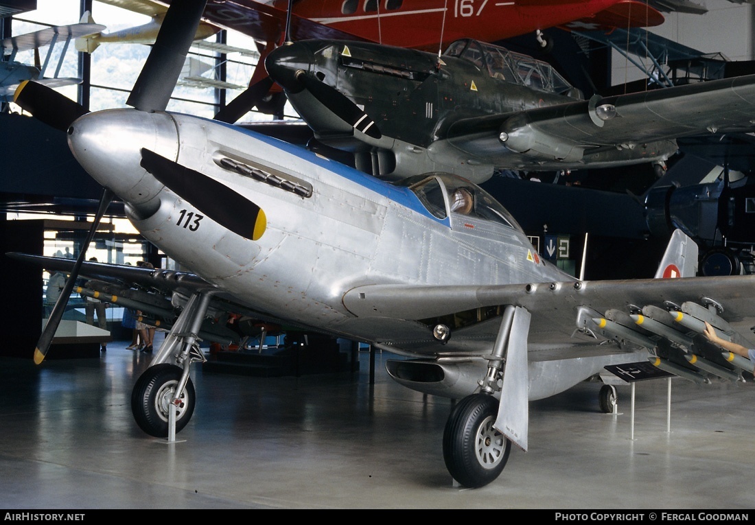
[[[211,296],[212,292],[192,295],[165,337],[153,364],[134,384],[131,412],[137,425],[150,436],[174,437],[194,413],[196,395],[189,372],[191,363],[206,360],[199,349],[197,334]],[[174,357],[176,364],[168,363],[170,357]]]

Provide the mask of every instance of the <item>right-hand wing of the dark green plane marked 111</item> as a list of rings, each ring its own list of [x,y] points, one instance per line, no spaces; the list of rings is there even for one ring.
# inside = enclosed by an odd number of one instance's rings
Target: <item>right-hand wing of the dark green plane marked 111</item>
[[[753,121],[755,75],[749,75],[461,119],[448,128],[446,138],[458,149],[494,163],[512,151],[533,164],[579,162],[601,150],[753,131]]]

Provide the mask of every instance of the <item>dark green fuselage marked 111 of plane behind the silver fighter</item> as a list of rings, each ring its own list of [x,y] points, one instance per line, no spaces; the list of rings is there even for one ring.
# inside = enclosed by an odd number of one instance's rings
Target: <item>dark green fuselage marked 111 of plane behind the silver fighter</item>
[[[479,183],[495,168],[603,168],[664,160],[677,149],[674,141],[619,148],[599,139],[578,147],[567,115],[564,136],[529,129],[520,112],[578,103],[570,111],[587,114],[589,102],[549,64],[473,40],[451,44],[441,57],[361,42],[294,42],[273,51],[266,66],[319,141],[352,151],[357,168],[389,180],[448,171]],[[304,88],[303,76],[363,108],[380,136],[339,118]]]

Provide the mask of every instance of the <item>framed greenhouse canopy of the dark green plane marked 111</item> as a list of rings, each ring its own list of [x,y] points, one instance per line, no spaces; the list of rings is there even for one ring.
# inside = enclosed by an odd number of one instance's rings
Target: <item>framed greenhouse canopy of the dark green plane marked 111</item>
[[[449,45],[444,54],[469,60],[495,79],[556,94],[574,89],[550,64],[497,45],[461,39]]]

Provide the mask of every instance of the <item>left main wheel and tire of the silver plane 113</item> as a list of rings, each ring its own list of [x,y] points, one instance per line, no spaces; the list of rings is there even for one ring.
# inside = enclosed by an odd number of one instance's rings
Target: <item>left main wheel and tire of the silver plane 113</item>
[[[181,402],[172,403],[183,370],[168,363],[150,366],[131,391],[131,412],[143,431],[154,437],[168,437],[168,410],[176,411],[176,432],[191,419],[196,404],[194,384],[189,378],[180,395]]]

